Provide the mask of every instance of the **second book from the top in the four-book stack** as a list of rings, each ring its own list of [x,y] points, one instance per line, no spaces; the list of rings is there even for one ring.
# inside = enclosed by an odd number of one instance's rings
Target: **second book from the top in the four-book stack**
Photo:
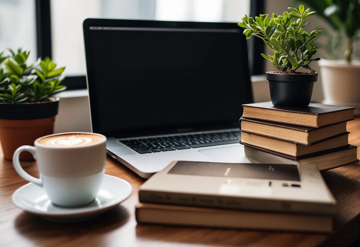
[[[239,129],[308,145],[346,132],[347,122],[334,123],[320,128],[240,117]]]

